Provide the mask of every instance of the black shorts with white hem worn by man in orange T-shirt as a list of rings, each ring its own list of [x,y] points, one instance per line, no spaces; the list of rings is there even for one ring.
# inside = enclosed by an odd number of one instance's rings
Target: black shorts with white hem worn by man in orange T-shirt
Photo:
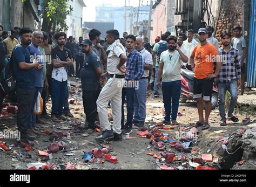
[[[194,78],[194,96],[193,99],[204,98],[204,101],[212,100],[213,79]]]

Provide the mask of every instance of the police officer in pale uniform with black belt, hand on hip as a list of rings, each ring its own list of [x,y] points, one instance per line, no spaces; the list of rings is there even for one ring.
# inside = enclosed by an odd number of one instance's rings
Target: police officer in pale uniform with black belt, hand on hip
[[[97,100],[97,112],[99,114],[100,127],[103,129],[102,135],[96,137],[96,141],[102,141],[110,138],[109,141],[122,141],[121,131],[121,106],[122,89],[125,83],[125,74],[128,74],[125,68],[126,52],[124,46],[120,43],[119,32],[109,30],[106,32],[107,43],[110,44],[109,56],[107,58],[107,72],[102,75],[110,75],[109,81],[103,87]],[[113,113],[113,132],[107,116],[107,103],[111,100]],[[113,138],[111,138],[113,137]]]

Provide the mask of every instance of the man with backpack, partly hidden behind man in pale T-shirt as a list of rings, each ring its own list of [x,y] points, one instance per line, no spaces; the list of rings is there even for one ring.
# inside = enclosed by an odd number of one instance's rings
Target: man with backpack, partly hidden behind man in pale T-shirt
[[[166,42],[167,35],[162,34],[161,40],[154,45],[153,51],[152,51],[152,59],[157,55],[157,61],[156,61],[156,74],[154,76],[154,98],[158,98],[159,92],[157,89],[157,78],[158,78],[158,69],[159,69],[159,60],[161,53],[168,50],[167,42]]]

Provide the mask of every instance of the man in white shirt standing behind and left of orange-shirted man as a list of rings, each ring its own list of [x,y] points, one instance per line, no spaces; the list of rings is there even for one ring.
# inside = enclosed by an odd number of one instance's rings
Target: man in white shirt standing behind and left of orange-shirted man
[[[187,31],[187,39],[183,42],[183,47],[187,51],[187,56],[190,57],[191,53],[196,45],[199,43],[193,38],[194,32],[193,30]],[[188,63],[186,66],[188,69],[191,70],[190,58],[188,58]]]

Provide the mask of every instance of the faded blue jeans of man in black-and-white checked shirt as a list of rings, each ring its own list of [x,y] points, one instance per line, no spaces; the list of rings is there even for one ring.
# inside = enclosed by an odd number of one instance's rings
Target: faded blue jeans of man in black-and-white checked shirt
[[[220,117],[221,121],[226,121],[226,113],[225,113],[225,98],[226,98],[226,92],[230,92],[230,106],[228,106],[228,115],[232,115],[234,112],[234,107],[237,104],[237,97],[238,97],[238,86],[237,81],[231,81],[231,82],[218,82],[218,97],[219,97],[219,111],[220,111]]]

